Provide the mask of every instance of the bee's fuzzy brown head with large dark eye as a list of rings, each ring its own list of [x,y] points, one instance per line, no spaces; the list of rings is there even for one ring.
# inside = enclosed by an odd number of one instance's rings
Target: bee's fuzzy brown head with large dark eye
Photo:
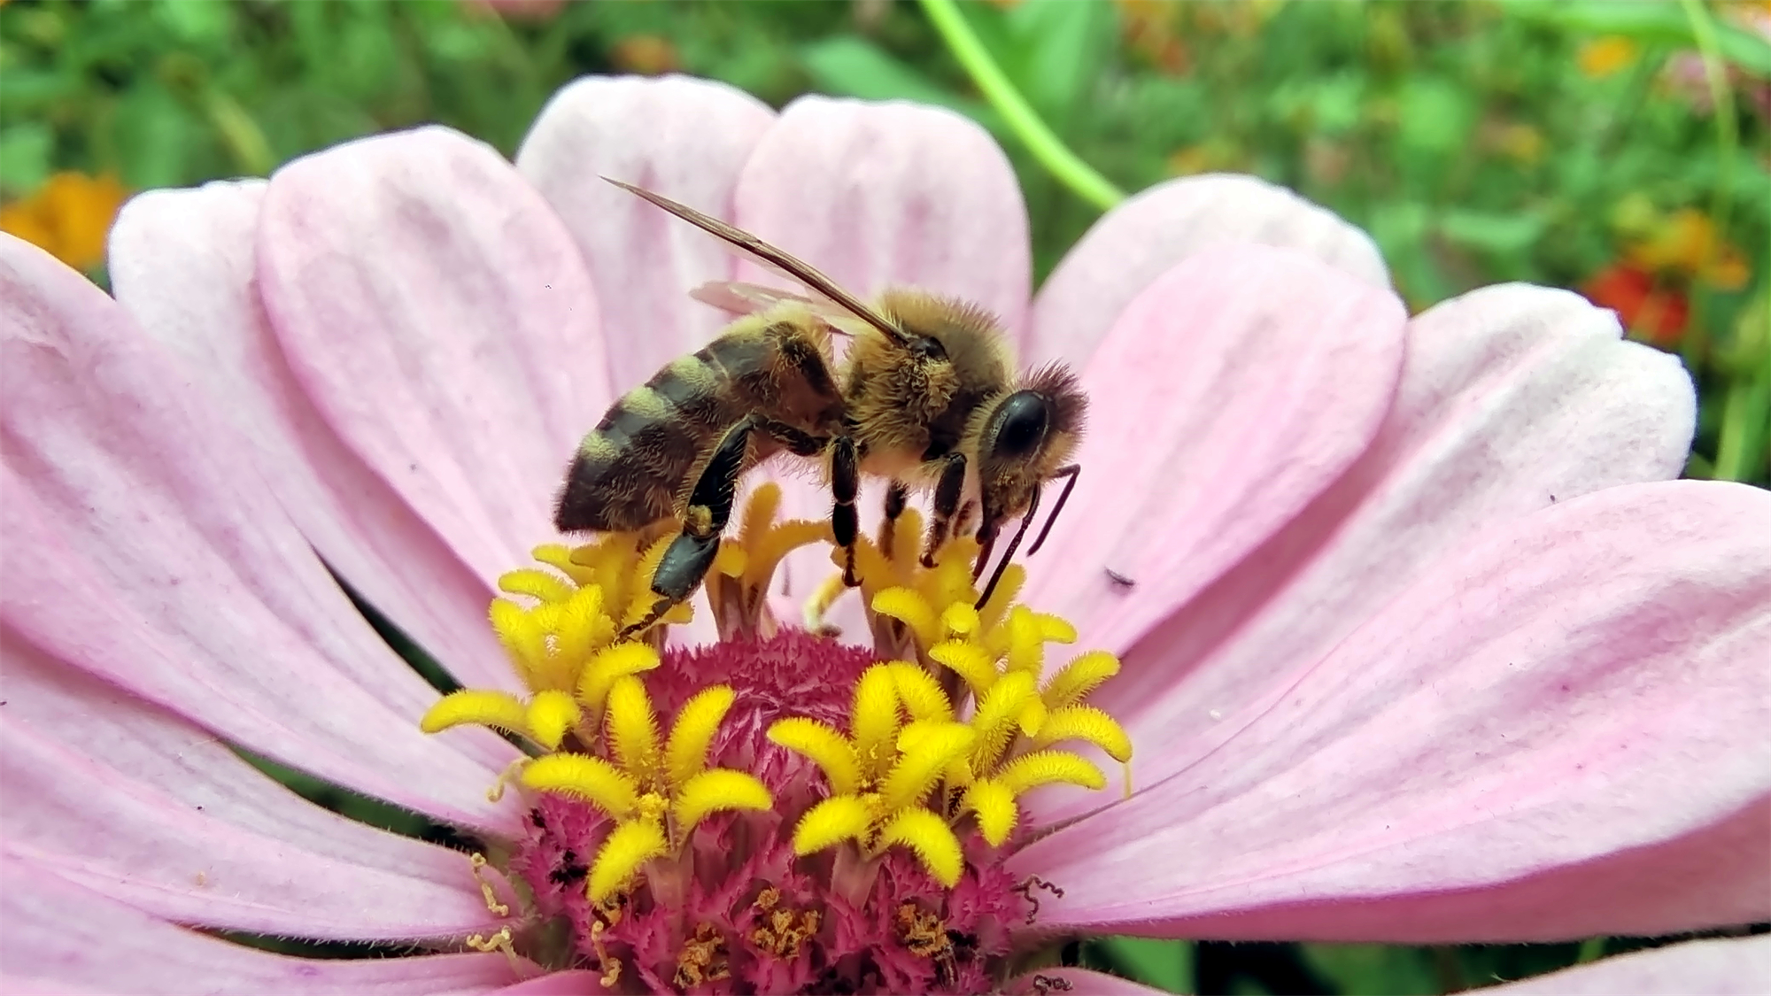
[[[1032,503],[1034,489],[1077,452],[1089,399],[1061,363],[1041,367],[1017,390],[985,404],[971,441],[978,466],[979,535],[995,535]]]

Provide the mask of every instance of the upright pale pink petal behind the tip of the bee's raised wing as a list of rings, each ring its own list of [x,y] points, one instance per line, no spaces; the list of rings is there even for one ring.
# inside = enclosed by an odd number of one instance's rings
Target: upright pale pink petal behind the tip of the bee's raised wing
[[[731,280],[737,259],[602,177],[731,218],[739,170],[770,122],[767,105],[724,83],[586,76],[554,94],[522,140],[517,170],[560,213],[600,291],[616,392],[694,353],[731,319],[689,291]]]

